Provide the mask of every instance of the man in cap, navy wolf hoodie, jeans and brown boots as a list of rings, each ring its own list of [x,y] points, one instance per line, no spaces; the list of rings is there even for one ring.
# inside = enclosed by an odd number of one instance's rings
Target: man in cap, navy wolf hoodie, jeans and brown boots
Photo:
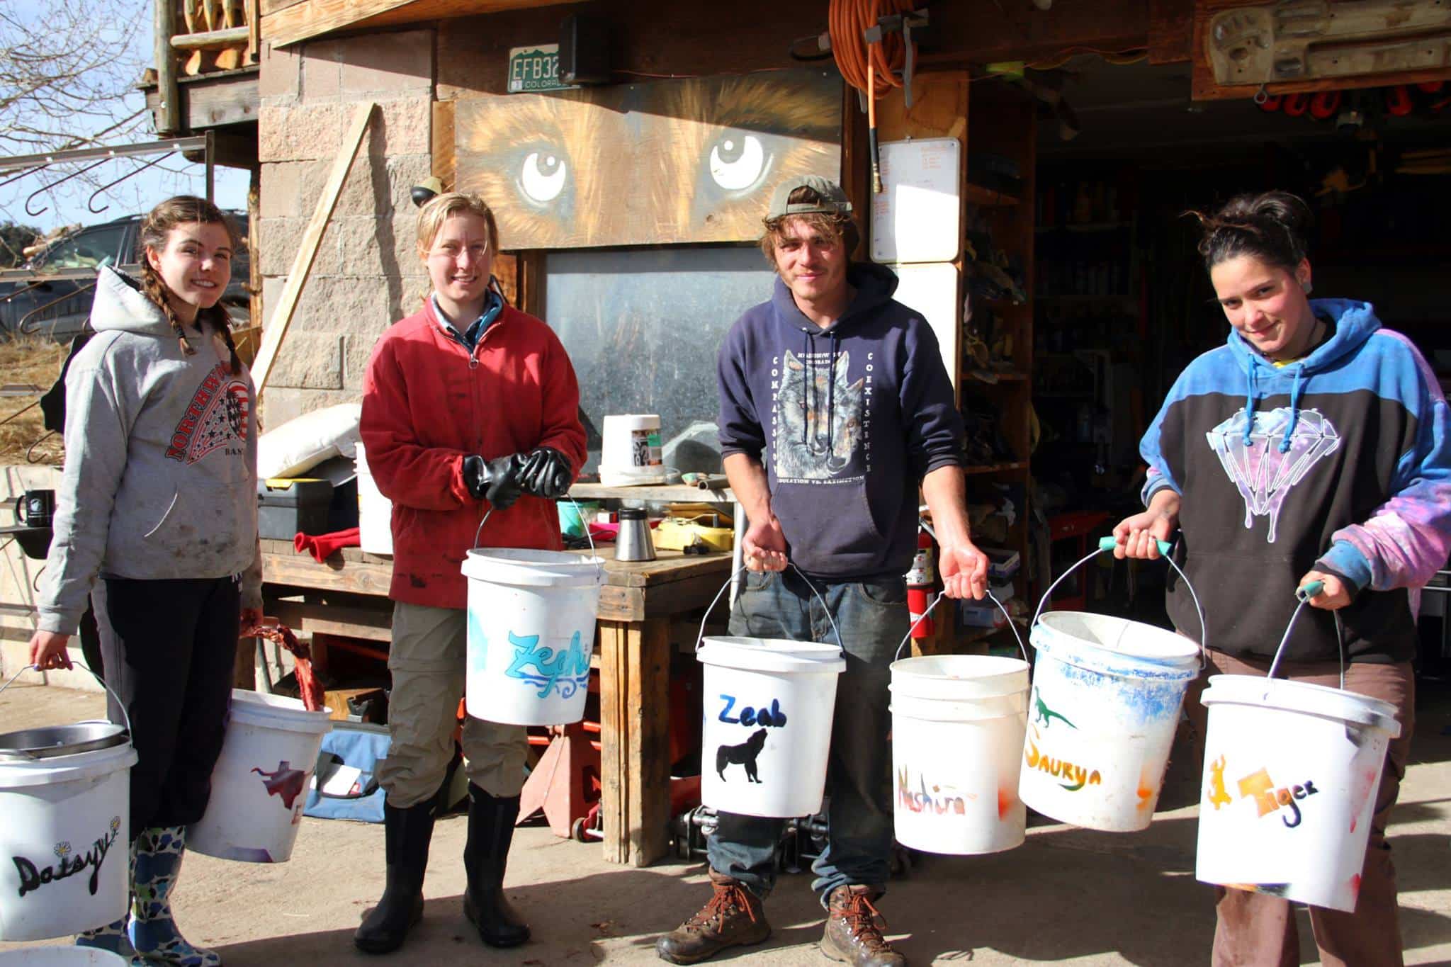
[[[962,419],[937,341],[921,315],[892,300],[891,271],[849,261],[850,210],[826,178],[776,190],[760,241],[775,291],[720,351],[721,451],[750,520],[741,544],[750,570],[730,634],[834,642],[830,609],[846,671],[831,726],[830,832],[813,866],[829,912],[821,953],[905,964],[882,938],[874,902],[892,850],[887,684],[908,628],[903,576],[917,547],[918,486],[946,594],[982,597],[987,558],[968,536]],[[770,935],[762,902],[785,821],[718,819],[714,893],[656,944],[673,964]]]

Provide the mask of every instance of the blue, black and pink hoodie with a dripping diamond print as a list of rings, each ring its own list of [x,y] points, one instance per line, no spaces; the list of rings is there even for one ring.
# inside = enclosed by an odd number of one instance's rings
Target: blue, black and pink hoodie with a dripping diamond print
[[[1354,592],[1338,613],[1347,657],[1415,654],[1415,599],[1451,548],[1451,445],[1445,397],[1416,348],[1362,302],[1318,299],[1332,326],[1283,367],[1238,332],[1180,374],[1139,447],[1148,503],[1183,494],[1184,570],[1204,605],[1209,645],[1273,655],[1315,568]],[[1199,635],[1181,581],[1170,618]],[[1307,607],[1288,661],[1336,657],[1335,619]]]

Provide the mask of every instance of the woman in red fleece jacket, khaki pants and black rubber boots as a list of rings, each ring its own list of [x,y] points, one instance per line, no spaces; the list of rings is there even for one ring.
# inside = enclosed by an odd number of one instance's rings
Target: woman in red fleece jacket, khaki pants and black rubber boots
[[[490,287],[498,249],[493,213],[477,194],[429,200],[418,254],[432,293],[383,333],[363,378],[367,462],[393,502],[392,741],[377,770],[387,790],[387,884],[353,937],[373,954],[400,947],[424,912],[434,806],[464,689],[464,555],[485,515],[480,545],[560,549],[553,499],[585,460],[575,370],[547,325]],[[502,892],[525,750],[522,726],[464,721],[464,915],[493,947],[530,938]]]

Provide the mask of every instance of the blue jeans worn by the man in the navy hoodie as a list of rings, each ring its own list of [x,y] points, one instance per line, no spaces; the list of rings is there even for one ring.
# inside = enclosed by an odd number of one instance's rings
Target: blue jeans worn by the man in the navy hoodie
[[[827,847],[811,866],[811,889],[826,906],[839,886],[887,889],[892,852],[892,750],[887,684],[907,634],[903,578],[826,584],[813,581],[840,629],[846,671],[837,677],[836,718],[827,761]],[[836,641],[821,600],[795,571],[747,573],[730,634],[792,641]],[[710,838],[715,873],[765,899],[776,883],[776,844],[785,819],[723,812]]]

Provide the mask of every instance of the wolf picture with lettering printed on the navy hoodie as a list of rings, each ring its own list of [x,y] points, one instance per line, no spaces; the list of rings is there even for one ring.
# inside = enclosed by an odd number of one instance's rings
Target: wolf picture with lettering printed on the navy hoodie
[[[871,354],[868,354],[871,355]],[[863,436],[865,377],[847,383],[852,354],[789,349],[776,390],[778,480],[829,480],[846,470]]]

